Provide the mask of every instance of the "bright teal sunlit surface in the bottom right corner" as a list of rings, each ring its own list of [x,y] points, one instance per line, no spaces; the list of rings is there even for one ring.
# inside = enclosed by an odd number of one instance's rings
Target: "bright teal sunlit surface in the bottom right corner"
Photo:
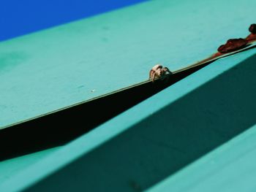
[[[255,191],[256,126],[149,191]]]

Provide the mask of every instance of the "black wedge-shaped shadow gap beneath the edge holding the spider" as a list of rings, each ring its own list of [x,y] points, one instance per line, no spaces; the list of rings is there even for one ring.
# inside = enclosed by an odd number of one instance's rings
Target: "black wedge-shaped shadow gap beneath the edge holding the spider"
[[[0,129],[0,161],[64,145],[210,63]]]

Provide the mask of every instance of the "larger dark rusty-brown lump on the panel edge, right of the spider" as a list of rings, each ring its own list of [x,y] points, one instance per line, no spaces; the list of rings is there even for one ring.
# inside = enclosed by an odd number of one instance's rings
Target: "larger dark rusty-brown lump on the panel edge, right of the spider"
[[[245,47],[247,43],[247,39],[228,39],[225,45],[219,46],[218,51],[219,53],[230,53]]]

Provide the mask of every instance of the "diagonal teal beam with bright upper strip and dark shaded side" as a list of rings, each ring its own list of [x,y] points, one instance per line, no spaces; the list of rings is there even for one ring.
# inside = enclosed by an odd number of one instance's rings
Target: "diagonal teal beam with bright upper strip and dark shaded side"
[[[255,53],[214,62],[13,175],[0,189],[19,191],[39,181],[28,191],[150,188],[255,125]]]

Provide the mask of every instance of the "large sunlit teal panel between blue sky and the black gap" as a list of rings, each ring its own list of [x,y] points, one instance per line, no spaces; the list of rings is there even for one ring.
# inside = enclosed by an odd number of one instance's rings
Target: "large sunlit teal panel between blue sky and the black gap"
[[[0,126],[205,58],[246,37],[256,1],[149,1],[0,43]],[[245,11],[246,10],[246,11]]]

